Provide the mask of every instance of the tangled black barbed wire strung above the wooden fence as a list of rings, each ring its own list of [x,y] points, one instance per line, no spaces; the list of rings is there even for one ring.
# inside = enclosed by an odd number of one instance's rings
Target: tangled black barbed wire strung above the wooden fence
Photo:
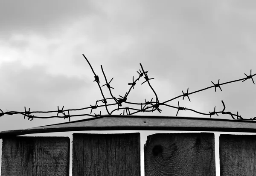
[[[221,92],[222,92],[221,86],[225,85],[225,84],[231,84],[231,83],[238,82],[238,81],[244,82],[244,81],[249,80],[249,79],[251,79],[253,81],[253,77],[256,74],[252,75],[252,70],[250,70],[250,75],[247,75],[247,74],[244,73],[244,75],[246,76],[245,78],[241,78],[241,79],[237,79],[237,80],[233,80],[233,81],[228,81],[228,82],[224,82],[224,83],[220,83],[220,79],[218,79],[218,83],[217,84],[215,84],[215,83],[213,83],[211,81],[213,86],[206,87],[204,89],[199,89],[199,90],[194,91],[194,92],[189,92],[189,88],[187,88],[186,93],[184,93],[183,90],[182,90],[181,91],[182,95],[179,95],[179,96],[177,96],[175,98],[171,98],[171,99],[163,101],[163,102],[159,102],[157,93],[155,92],[155,90],[153,89],[153,87],[151,86],[151,84],[149,82],[150,80],[152,80],[154,78],[148,78],[148,71],[144,71],[144,68],[143,68],[141,63],[140,63],[141,70],[139,69],[139,71],[137,71],[137,73],[139,74],[138,78],[134,80],[134,76],[133,76],[132,77],[132,83],[128,83],[128,85],[131,86],[129,88],[129,90],[125,93],[124,96],[119,95],[120,98],[116,98],[115,96],[113,96],[113,94],[111,92],[111,89],[114,89],[110,85],[111,81],[113,80],[113,78],[111,78],[111,80],[108,82],[108,79],[107,79],[107,77],[105,75],[105,72],[103,70],[103,67],[101,65],[101,70],[102,70],[103,76],[105,78],[105,84],[101,86],[100,85],[100,81],[99,81],[99,76],[96,75],[96,73],[94,72],[93,67],[91,66],[91,64],[88,61],[88,59],[84,55],[83,55],[83,57],[85,58],[85,60],[89,64],[89,66],[90,66],[90,68],[91,68],[91,70],[92,70],[92,72],[94,74],[94,79],[95,80],[93,82],[96,82],[98,84],[98,87],[99,87],[100,92],[101,92],[102,97],[103,97],[103,99],[97,100],[95,105],[90,105],[89,107],[84,107],[84,108],[80,108],[80,109],[67,109],[67,110],[64,110],[64,106],[63,106],[61,109],[58,107],[57,110],[53,110],[53,111],[30,111],[30,108],[28,110],[26,110],[26,107],[24,107],[24,112],[8,111],[8,110],[6,112],[3,112],[0,109],[0,117],[3,116],[3,115],[21,114],[21,115],[24,115],[24,119],[27,117],[28,120],[30,120],[30,121],[32,121],[34,118],[64,118],[64,119],[68,118],[69,121],[70,121],[71,117],[78,117],[78,116],[97,117],[97,116],[103,115],[103,114],[101,114],[101,111],[100,111],[99,114],[94,113],[94,115],[92,115],[93,110],[98,109],[100,107],[105,107],[106,112],[108,113],[108,115],[111,115],[114,112],[119,111],[119,110],[122,110],[122,113],[120,113],[120,115],[125,115],[125,114],[126,115],[134,115],[134,114],[137,114],[137,113],[154,112],[156,110],[159,113],[161,113],[162,110],[160,109],[160,106],[166,106],[166,107],[171,107],[171,108],[177,109],[176,116],[178,115],[179,111],[182,111],[182,110],[186,111],[187,110],[187,111],[192,111],[192,112],[195,112],[195,113],[198,113],[198,114],[201,114],[201,115],[209,115],[210,117],[212,117],[212,115],[217,115],[218,116],[218,114],[223,114],[223,115],[227,114],[227,115],[230,115],[233,119],[256,120],[256,117],[253,117],[253,118],[242,118],[241,115],[239,115],[238,112],[236,114],[234,114],[234,113],[225,111],[226,106],[224,104],[224,101],[221,101],[221,103],[223,105],[223,110],[216,111],[215,110],[216,107],[214,107],[214,110],[212,112],[209,111],[209,113],[202,113],[202,112],[190,109],[190,108],[180,107],[180,102],[179,101],[177,102],[177,104],[178,104],[177,107],[167,104],[170,101],[173,101],[173,100],[175,100],[177,98],[181,98],[181,97],[182,97],[182,100],[184,100],[184,98],[187,97],[189,99],[189,101],[191,101],[190,98],[189,98],[189,95],[192,95],[192,94],[195,94],[195,93],[207,90],[207,89],[211,89],[211,88],[214,88],[215,92],[216,92],[216,89],[219,88],[221,90]],[[155,95],[155,101],[153,101],[153,98],[151,98],[150,101],[146,101],[146,99],[145,99],[145,103],[144,102],[135,103],[135,102],[127,101],[127,98],[128,98],[128,95],[131,92],[131,89],[134,89],[135,85],[137,85],[137,82],[143,76],[144,76],[145,81],[143,81],[143,83],[141,83],[141,84],[144,84],[146,82],[148,83],[148,86],[150,87],[150,89],[152,90],[152,92]],[[253,81],[253,84],[255,84],[254,81]],[[103,91],[102,91],[102,87],[104,87],[104,86],[106,86],[108,88],[109,93],[111,95],[111,98],[105,98],[105,95],[103,94]],[[108,104],[107,100],[113,100],[115,103]],[[99,102],[101,102],[103,104],[102,105],[98,105]],[[133,108],[133,107],[129,107],[129,106],[122,107],[123,104],[128,104],[128,105],[132,104],[132,105],[137,106],[138,108]],[[115,108],[111,112],[109,112],[109,110],[108,110],[109,106],[117,106],[117,108]],[[81,110],[87,110],[87,109],[90,110],[90,114],[88,113],[88,114],[70,115],[70,112],[72,112],[72,111],[81,111]],[[35,116],[35,115],[32,115],[32,114],[38,114],[38,113],[57,113],[57,115],[55,115],[55,116],[46,116],[46,117],[45,116]],[[59,114],[61,114],[61,116],[59,116]]]

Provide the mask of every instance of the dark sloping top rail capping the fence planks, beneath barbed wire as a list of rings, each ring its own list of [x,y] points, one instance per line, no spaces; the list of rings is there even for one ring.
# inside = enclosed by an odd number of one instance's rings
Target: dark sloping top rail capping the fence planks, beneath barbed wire
[[[35,133],[102,130],[179,130],[256,133],[256,121],[176,116],[102,115],[78,121],[1,131],[0,138]]]

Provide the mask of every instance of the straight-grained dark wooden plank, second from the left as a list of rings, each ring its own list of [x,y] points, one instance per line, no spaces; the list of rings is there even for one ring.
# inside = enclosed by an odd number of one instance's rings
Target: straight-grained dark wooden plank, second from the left
[[[73,134],[73,176],[140,176],[140,133]]]

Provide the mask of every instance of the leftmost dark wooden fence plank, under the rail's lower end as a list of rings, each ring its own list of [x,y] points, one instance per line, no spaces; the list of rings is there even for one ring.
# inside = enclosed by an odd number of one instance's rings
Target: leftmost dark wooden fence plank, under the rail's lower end
[[[69,176],[68,137],[3,138],[1,176]]]

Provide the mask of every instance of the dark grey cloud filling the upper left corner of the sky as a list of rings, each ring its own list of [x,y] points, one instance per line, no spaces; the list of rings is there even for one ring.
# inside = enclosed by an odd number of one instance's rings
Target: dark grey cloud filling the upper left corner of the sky
[[[93,12],[89,1],[8,0],[0,2],[2,35],[10,32],[58,32],[83,15]]]

